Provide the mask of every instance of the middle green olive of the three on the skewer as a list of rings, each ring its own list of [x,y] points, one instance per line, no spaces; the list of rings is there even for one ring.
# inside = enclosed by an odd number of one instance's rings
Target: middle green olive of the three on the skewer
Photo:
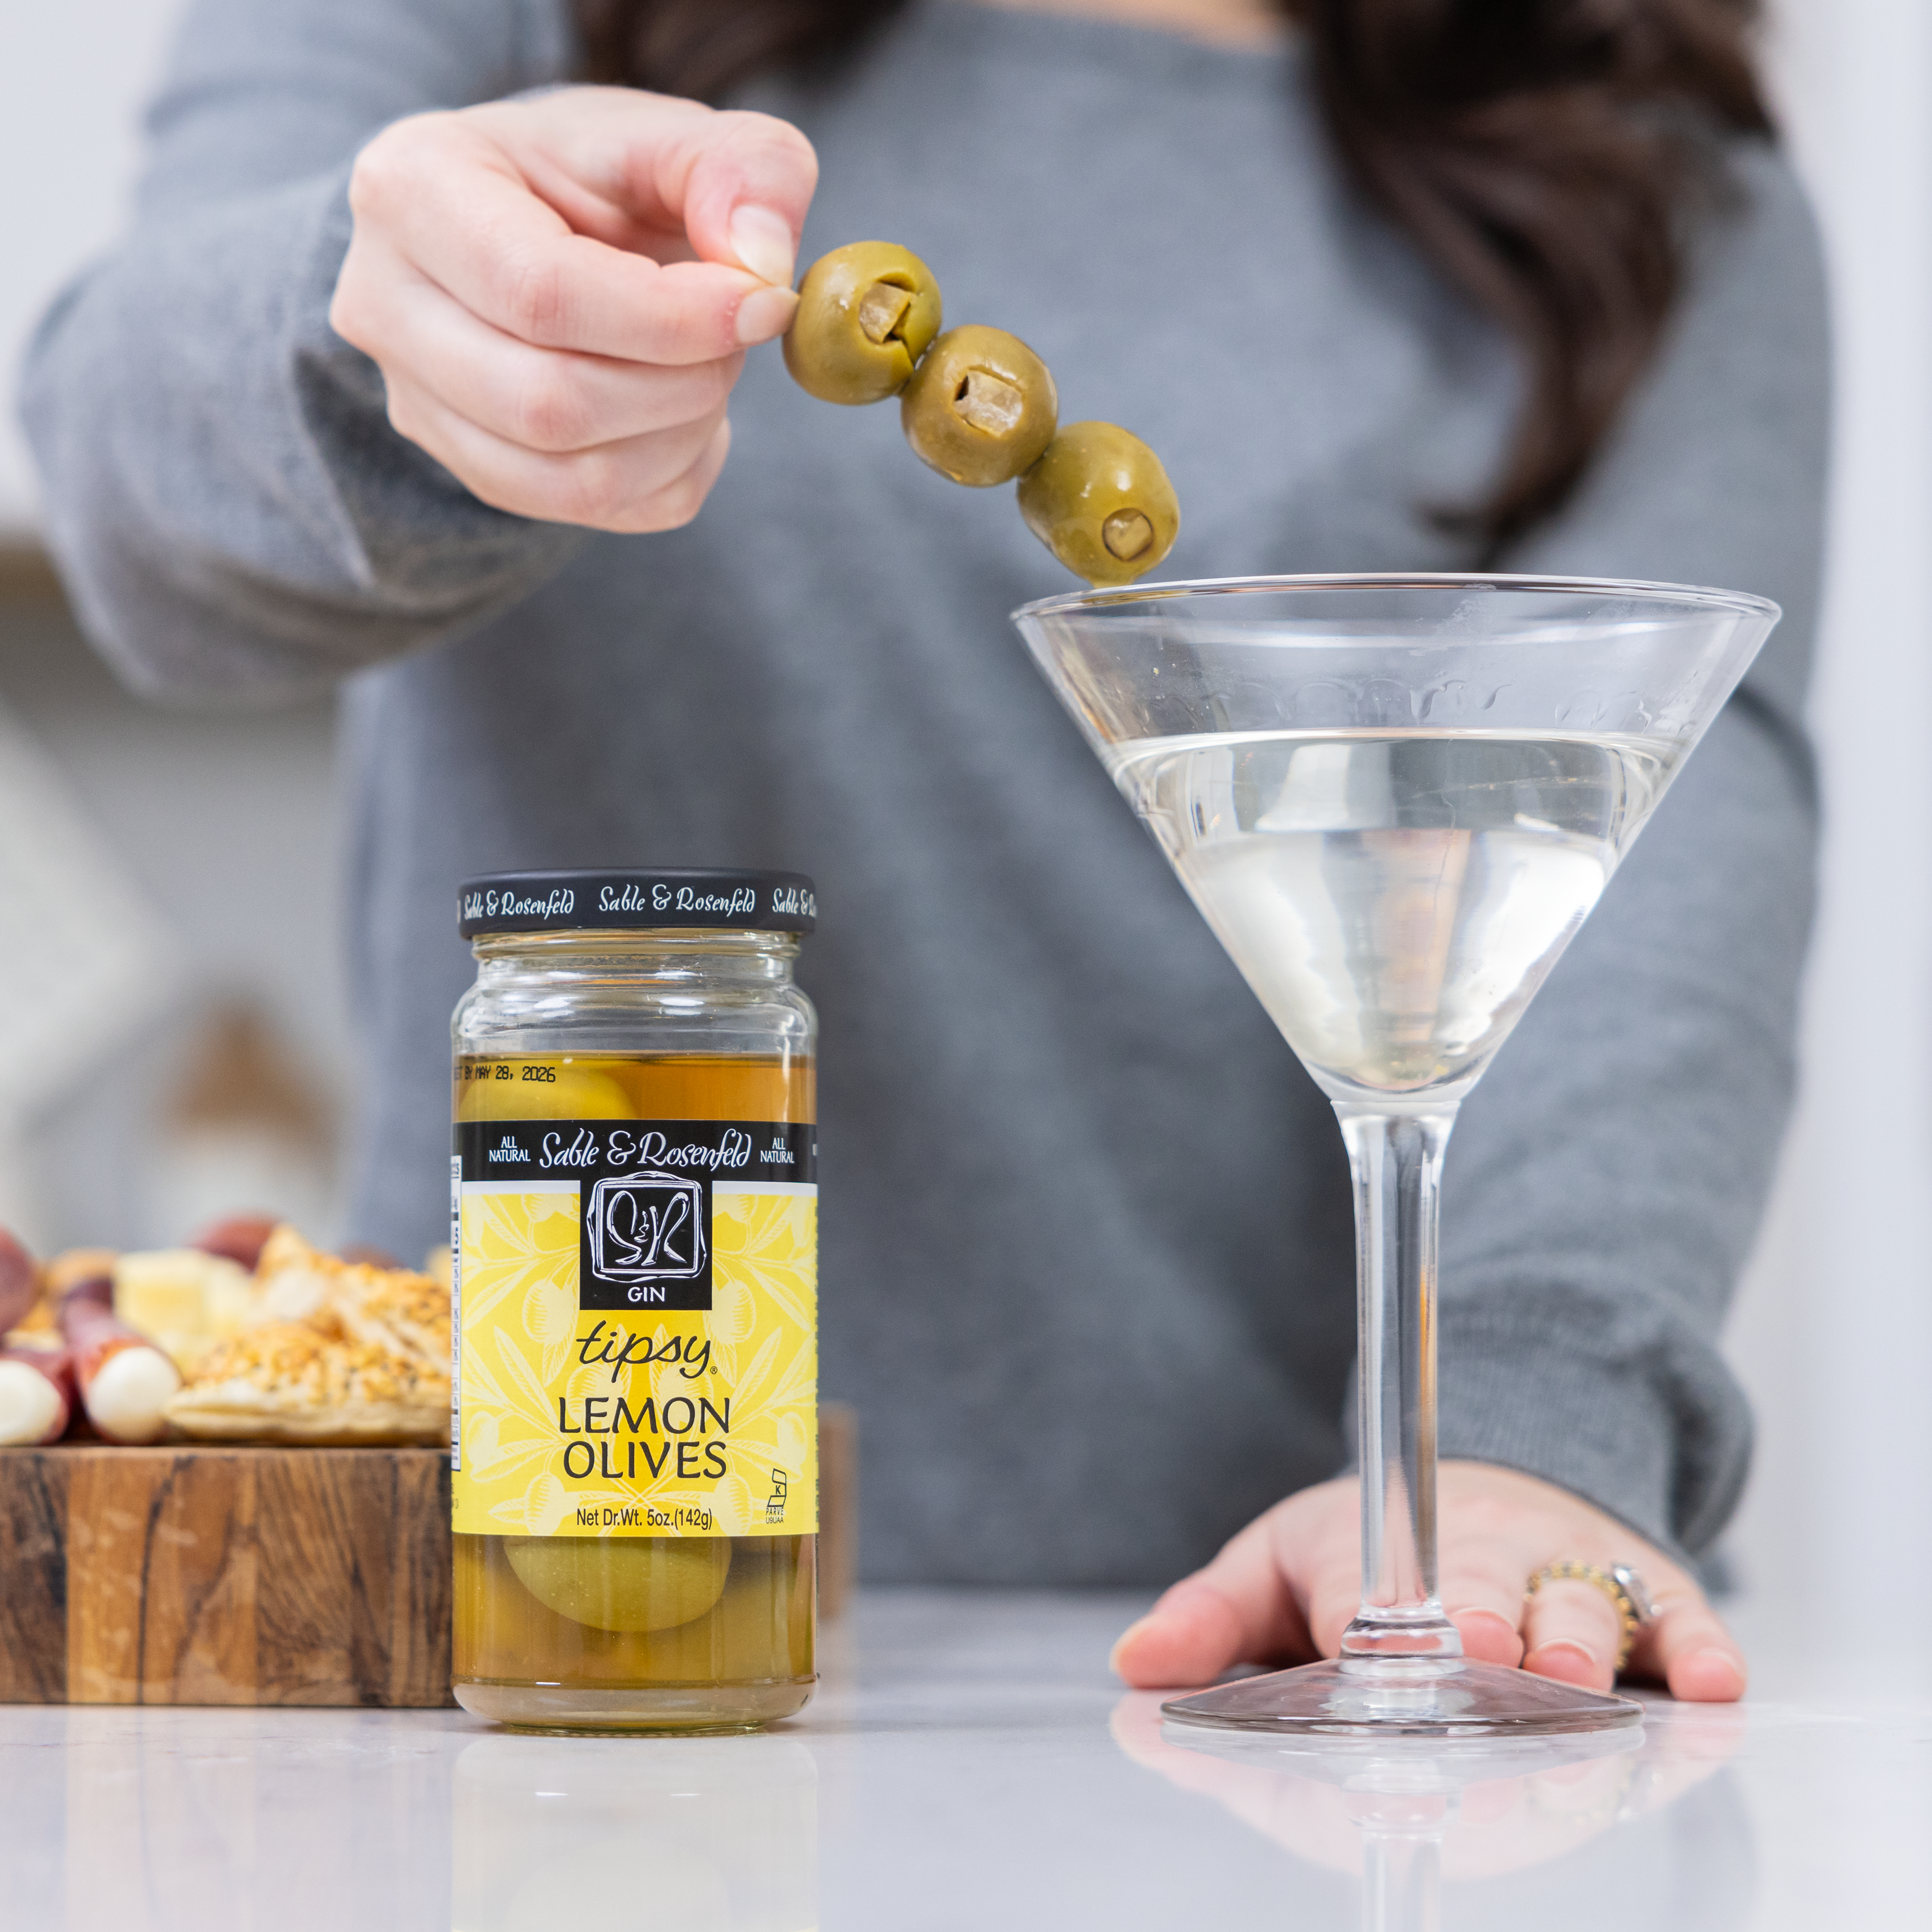
[[[974,489],[1032,469],[1059,413],[1047,365],[1005,328],[949,328],[898,400],[914,454]]]

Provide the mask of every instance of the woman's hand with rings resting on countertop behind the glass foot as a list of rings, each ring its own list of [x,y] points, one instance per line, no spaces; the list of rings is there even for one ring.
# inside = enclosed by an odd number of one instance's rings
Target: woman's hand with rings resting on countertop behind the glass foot
[[[1488,1463],[1443,1463],[1441,1600],[1463,1648],[1484,1663],[1611,1687],[1621,1627],[1586,1582],[1548,1582],[1546,1563],[1627,1563],[1660,1615],[1636,1636],[1633,1675],[1673,1696],[1729,1704],[1745,1694],[1745,1656],[1704,1592],[1663,1551],[1569,1490]],[[1302,1490],[1258,1517],[1206,1569],[1177,1582],[1113,1648],[1136,1689],[1204,1685],[1231,1663],[1333,1658],[1362,1588],[1360,1493],[1354,1480]]]

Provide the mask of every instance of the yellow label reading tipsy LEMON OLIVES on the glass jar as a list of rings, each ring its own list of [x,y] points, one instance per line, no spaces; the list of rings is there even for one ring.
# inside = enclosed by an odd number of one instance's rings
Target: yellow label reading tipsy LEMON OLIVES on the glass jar
[[[541,1142],[526,1151],[543,1159]],[[699,1252],[711,1306],[611,1308],[580,1294],[591,1182],[464,1179],[458,1161],[452,1184],[458,1534],[817,1530],[815,1186],[709,1175]],[[657,1200],[678,1206],[668,1173]],[[622,1206],[636,1258],[643,1236]],[[639,1265],[618,1279],[647,1275]]]

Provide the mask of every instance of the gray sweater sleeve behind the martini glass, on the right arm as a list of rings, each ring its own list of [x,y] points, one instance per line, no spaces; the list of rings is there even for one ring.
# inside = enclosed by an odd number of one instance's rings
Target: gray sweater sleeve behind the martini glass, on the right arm
[[[1445,1171],[1441,1453],[1559,1482],[1696,1551],[1750,1412],[1718,1350],[1793,1090],[1818,802],[1830,342],[1803,193],[1766,147],[1644,394],[1511,568],[1758,591],[1783,622],[1463,1109]]]

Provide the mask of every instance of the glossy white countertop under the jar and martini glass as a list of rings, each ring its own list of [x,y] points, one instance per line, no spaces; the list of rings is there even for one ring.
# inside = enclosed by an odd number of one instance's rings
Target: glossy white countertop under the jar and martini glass
[[[827,1681],[804,1718],[748,1739],[526,1739],[464,1712],[4,1708],[0,1922],[8,1932],[1924,1922],[1924,1669],[1909,1685],[1853,1689],[1849,1669],[1814,1667],[1745,1615],[1752,1700],[1652,1704],[1640,1743],[1619,1756],[1551,1768],[1424,1747],[1323,1760],[1163,1731],[1159,1698],[1122,1694],[1105,1669],[1107,1644],[1138,1607],[866,1598],[827,1633]]]

